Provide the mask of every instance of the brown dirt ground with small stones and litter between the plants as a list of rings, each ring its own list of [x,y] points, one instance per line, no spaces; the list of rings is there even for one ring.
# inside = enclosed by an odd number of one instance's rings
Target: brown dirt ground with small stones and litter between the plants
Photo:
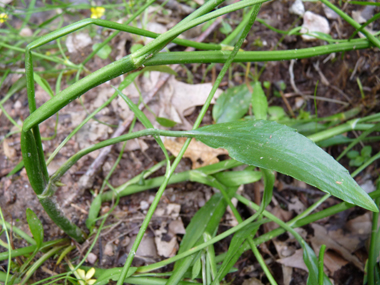
[[[287,1],[274,1],[268,5],[264,5],[259,13],[259,17],[270,23],[273,27],[281,30],[288,30],[291,27],[298,26],[302,24],[302,18],[288,13],[291,4],[291,2]],[[324,15],[321,5],[310,2],[305,2],[304,4],[306,10],[311,10],[319,15]],[[359,6],[354,7],[360,9]],[[353,6],[348,6],[345,11],[351,13],[352,9]],[[379,7],[376,9],[376,12],[378,13],[380,10]],[[170,10],[170,8],[168,8],[168,10]],[[88,13],[88,11],[83,11],[83,14],[87,17],[89,16]],[[169,20],[167,19],[168,16],[162,15],[161,13],[158,13],[157,15],[157,19],[161,21],[161,24],[166,19],[166,23],[162,24],[163,26],[170,27],[171,23],[169,23]],[[174,10],[171,10],[171,15],[171,21],[174,22],[178,22],[180,18],[183,18],[183,15],[177,15]],[[35,24],[38,24],[47,19],[48,16],[49,13],[40,13],[39,16],[33,16],[31,20],[34,21]],[[233,13],[232,16],[228,18],[228,23],[234,27],[239,23],[240,18],[240,13]],[[76,20],[76,17],[71,19],[67,16],[66,24]],[[17,20],[14,21],[15,24],[17,24]],[[329,21],[332,26],[331,35],[333,37],[347,38],[354,32],[354,29],[343,20]],[[374,23],[373,29],[380,30],[380,23],[378,21]],[[199,30],[194,31],[194,33],[199,34]],[[105,35],[103,34],[102,36],[104,37]],[[216,28],[207,38],[206,42],[217,42],[224,37],[225,35],[219,31],[219,28]],[[111,46],[114,47],[114,50],[112,51],[110,58],[116,59],[128,53],[129,50],[126,50],[126,48],[128,48],[133,40],[134,38],[125,34],[120,34],[114,38],[111,42]],[[262,24],[255,23],[244,44],[244,49],[257,51],[273,49],[288,50],[323,44],[326,43],[323,41],[305,42],[300,36],[294,35],[285,36],[282,39],[282,35],[265,28]],[[173,50],[183,50],[183,48],[174,47]],[[83,49],[81,52],[72,54],[70,59],[73,62],[81,62],[90,52],[91,48]],[[335,100],[335,103],[326,100],[317,100],[316,106],[318,116],[325,117],[338,112],[350,110],[354,107],[362,108],[359,117],[379,112],[380,81],[378,71],[380,66],[380,53],[378,50],[368,49],[338,53],[333,60],[326,60],[327,57],[328,56],[319,56],[298,60],[295,61],[292,68],[292,72],[295,75],[294,83],[303,94],[313,95],[315,85],[317,84],[317,81],[319,81],[317,96]],[[109,63],[111,63],[111,59],[102,60],[99,57],[94,57],[93,60],[86,64],[86,67],[92,72]],[[316,66],[319,66],[319,69]],[[206,65],[186,65],[188,70],[196,70],[196,72],[193,73],[193,82],[195,84],[201,82],[206,67]],[[313,100],[303,100],[301,96],[295,94],[296,92],[291,83],[289,61],[252,63],[251,71],[255,72],[255,70],[260,70],[263,67],[265,68],[260,77],[260,81],[269,81],[272,83],[283,81],[286,85],[284,94],[296,115],[299,115],[301,110],[303,112],[310,112],[310,114],[315,113]],[[14,68],[23,68],[23,64],[20,62],[20,66]],[[217,74],[220,69],[221,65],[217,64],[215,69],[207,74],[205,82],[212,82],[212,80],[215,79],[214,75]],[[245,69],[243,66],[235,64],[232,69],[232,76],[230,78],[226,76],[221,85],[221,89],[224,90],[229,86],[243,84],[244,73]],[[187,82],[188,73],[185,68],[181,68],[178,74],[179,76],[176,78],[177,81]],[[18,75],[13,75],[9,80],[7,79],[4,82],[1,89],[0,99],[18,77]],[[323,77],[327,81],[324,81]],[[365,98],[362,98],[361,96],[356,81],[357,77],[360,77]],[[146,78],[146,76],[138,78],[138,84],[143,91],[143,95],[149,92],[148,83],[150,82],[151,85],[154,85],[154,80],[155,79],[152,78]],[[48,81],[51,86],[55,86],[56,79],[52,78]],[[110,84],[117,85],[119,82],[120,78],[116,78],[111,80]],[[67,86],[66,82],[64,84]],[[113,89],[110,84],[102,84],[101,86],[88,91],[83,96],[84,106],[88,112],[95,110],[107,98],[109,98],[110,95],[112,95]],[[62,86],[62,89],[64,87],[65,86]],[[41,88],[36,88],[36,100],[37,104],[40,106],[43,102],[48,100],[49,97]],[[273,90],[267,93],[270,106],[281,106],[289,114],[287,105],[282,98],[274,96]],[[158,101],[158,98],[153,99],[152,105],[159,105],[160,102]],[[345,104],[342,104],[342,102]],[[29,110],[26,90],[23,89],[21,92],[17,92],[13,95],[4,104],[4,108],[16,121],[23,121],[27,118]],[[195,121],[199,114],[199,110],[200,107],[196,107],[193,112],[185,116],[190,124]],[[45,154],[50,154],[54,151],[59,143],[84,119],[87,111],[83,109],[79,100],[76,100],[60,112],[58,134],[56,138],[43,142]],[[114,103],[101,111],[96,118],[113,126],[109,127],[94,120],[90,121],[62,148],[55,160],[49,165],[49,173],[53,173],[57,170],[63,162],[80,149],[110,138],[116,129],[115,126],[117,127],[125,120],[126,115],[125,113],[123,114],[123,112],[125,112],[125,110],[122,109],[120,105]],[[149,115],[148,112],[147,115]],[[6,134],[13,131],[14,127],[4,115],[0,116],[0,122],[0,139],[2,139]],[[210,123],[212,123],[211,109],[203,120],[203,124]],[[42,136],[48,137],[53,135],[54,124],[55,117],[42,123],[40,125]],[[142,128],[142,126],[137,124],[135,130],[139,128]],[[181,126],[177,126],[176,128],[181,129]],[[355,137],[357,136],[357,133],[350,132],[347,136]],[[5,144],[7,146],[5,146]],[[373,154],[380,151],[378,143],[373,143],[371,146]],[[83,229],[86,228],[85,220],[92,201],[92,193],[97,193],[100,190],[104,178],[107,176],[109,170],[119,156],[121,147],[122,144],[118,144],[112,148],[105,162],[96,171],[94,182],[89,189],[79,190],[78,183],[81,176],[85,174],[91,163],[99,155],[98,151],[81,159],[61,180],[64,186],[60,187],[56,193],[57,201],[65,214]],[[343,151],[344,147],[344,145],[328,147],[326,151],[332,156],[337,157]],[[218,158],[223,160],[227,159],[228,156],[219,155]],[[142,140],[134,141],[133,143],[128,144],[127,150],[122,155],[120,164],[116,168],[109,182],[113,186],[121,185],[163,159],[164,155],[161,149],[152,138],[144,138]],[[63,237],[63,232],[51,222],[50,218],[45,214],[39,204],[36,195],[33,193],[33,190],[29,185],[25,169],[22,169],[11,177],[6,177],[20,160],[20,136],[19,134],[15,134],[7,138],[0,146],[0,207],[4,213],[5,219],[8,222],[13,222],[14,225],[20,227],[22,230],[29,232],[26,223],[25,210],[26,208],[30,208],[43,222],[45,241]],[[341,163],[347,167],[348,170],[354,170],[354,168],[348,166],[348,162],[349,160],[347,158],[341,160]],[[185,158],[180,163],[177,171],[190,170],[192,169],[193,163],[194,162],[191,159]],[[367,183],[368,185],[373,186],[374,181],[380,174],[378,166],[378,162],[375,162],[363,173],[360,173],[356,178],[359,185]],[[165,168],[161,168],[151,177],[160,176],[164,173]],[[257,199],[254,195],[257,191],[255,191],[254,188],[260,188],[262,187],[262,184],[256,184],[245,185],[241,189],[242,193],[249,196],[252,200]],[[277,174],[275,186],[274,199],[273,203],[270,205],[270,209],[285,221],[291,219],[297,213],[316,202],[321,197],[322,193],[303,182],[295,181],[282,174]],[[106,189],[109,190],[109,188]],[[133,244],[135,235],[139,230],[139,226],[145,217],[147,207],[152,202],[156,190],[157,189],[152,189],[120,199],[115,211],[107,220],[106,228],[103,230],[98,244],[92,251],[96,256],[96,266],[109,268],[123,265],[129,247]],[[179,228],[183,225],[183,227],[186,228],[191,217],[205,204],[213,193],[214,189],[198,183],[184,182],[169,185],[161,199],[159,213],[153,217],[149,230],[140,246],[141,251],[137,253],[138,257],[134,260],[133,265],[141,266],[164,259],[164,257],[157,251],[155,237],[161,233],[161,240],[169,243],[173,236],[169,234],[168,228],[174,225]],[[318,210],[324,209],[338,202],[337,199],[330,198],[326,203],[320,206]],[[112,205],[112,202],[103,203],[101,213],[104,214],[109,211]],[[238,204],[237,208],[243,218],[247,218],[251,215],[250,211],[243,205]],[[181,223],[178,224],[178,221],[181,221]],[[359,208],[353,208],[339,215],[329,217],[328,219],[318,221],[315,224],[300,229],[300,233],[302,233],[313,246],[318,244],[320,237],[324,234],[331,238],[331,250],[329,250],[331,254],[329,256],[332,262],[337,266],[334,267],[334,269],[333,267],[329,267],[328,269],[331,273],[330,277],[333,278],[335,282],[334,284],[362,284],[364,276],[363,268],[367,259],[366,242],[369,236],[367,226],[370,225],[370,221],[371,216],[368,212]],[[219,233],[229,229],[232,222],[231,215],[227,213],[221,222]],[[360,226],[363,225],[366,227],[360,231]],[[272,228],[273,225],[262,227],[258,234],[262,234]],[[175,246],[172,248],[173,252],[177,249],[182,236],[183,233],[181,233],[181,230],[178,230],[175,235]],[[225,252],[228,249],[230,238],[216,244],[216,253]],[[333,242],[336,243],[336,240],[339,239],[351,240],[354,244],[350,244],[351,248],[349,249],[346,248],[346,244],[339,244],[335,247],[332,246]],[[27,244],[23,240],[16,239],[14,240],[14,245],[18,248],[26,246]],[[85,250],[86,246],[88,245],[80,245],[79,248],[81,248],[81,250],[73,252],[72,257],[80,255],[80,251]],[[0,251],[3,250],[4,249],[0,249]],[[292,237],[284,234],[273,241],[263,244],[260,246],[260,250],[272,270],[275,279],[279,281],[279,284],[285,284],[283,281],[285,279],[284,272],[290,274],[290,284],[306,284],[307,273],[303,269],[304,267],[302,267],[302,264],[299,264],[299,258],[297,259],[293,256],[293,253],[297,254],[299,246],[295,241],[292,241]],[[288,256],[294,257],[294,263],[291,263],[286,259]],[[277,262],[279,259],[281,259],[281,263]],[[0,263],[0,266],[5,265],[5,262]],[[87,265],[91,265],[91,263],[88,262]],[[55,272],[62,270],[62,268],[55,267],[53,261],[47,264],[46,267]],[[238,271],[227,275],[227,282],[232,282],[231,284],[261,284],[253,283],[254,281],[252,280],[257,278],[262,284],[268,284],[265,274],[260,269],[258,262],[251,252],[247,251],[244,253],[235,267]],[[163,268],[162,271],[167,271],[168,269],[170,269],[170,267]],[[47,272],[41,270],[38,273],[38,276],[38,279],[40,279],[48,277],[49,275]]]

